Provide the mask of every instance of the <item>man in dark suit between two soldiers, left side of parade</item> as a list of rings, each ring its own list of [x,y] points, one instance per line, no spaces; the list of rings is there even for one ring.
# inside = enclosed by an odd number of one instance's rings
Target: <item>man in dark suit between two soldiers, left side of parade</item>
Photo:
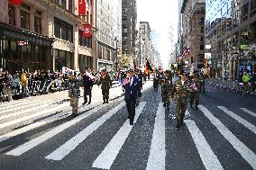
[[[85,67],[85,72],[83,75],[83,86],[84,86],[84,103],[86,104],[87,101],[87,95],[89,96],[89,102],[90,104],[92,102],[92,88],[93,88],[94,82],[90,78],[89,73],[88,73],[88,67]]]

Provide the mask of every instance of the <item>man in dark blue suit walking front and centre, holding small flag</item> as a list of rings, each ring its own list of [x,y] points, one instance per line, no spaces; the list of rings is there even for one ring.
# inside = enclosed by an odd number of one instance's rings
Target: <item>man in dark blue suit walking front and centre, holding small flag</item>
[[[138,97],[138,84],[139,81],[134,77],[133,69],[128,71],[128,77],[123,80],[123,88],[125,90],[124,100],[129,113],[130,125],[133,125],[136,100]]]

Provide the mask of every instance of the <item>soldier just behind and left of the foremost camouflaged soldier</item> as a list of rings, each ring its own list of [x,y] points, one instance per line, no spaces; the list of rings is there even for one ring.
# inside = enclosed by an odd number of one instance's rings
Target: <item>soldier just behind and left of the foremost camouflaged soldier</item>
[[[161,85],[161,98],[163,102],[163,106],[169,110],[169,96],[170,90],[172,88],[172,80],[169,73],[169,70],[166,70],[165,77],[160,80]]]

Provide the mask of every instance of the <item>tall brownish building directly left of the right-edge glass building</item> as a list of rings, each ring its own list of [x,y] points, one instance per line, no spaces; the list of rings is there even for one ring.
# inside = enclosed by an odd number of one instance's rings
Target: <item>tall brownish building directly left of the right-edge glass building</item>
[[[181,55],[188,67],[204,67],[205,58],[205,0],[183,1]]]

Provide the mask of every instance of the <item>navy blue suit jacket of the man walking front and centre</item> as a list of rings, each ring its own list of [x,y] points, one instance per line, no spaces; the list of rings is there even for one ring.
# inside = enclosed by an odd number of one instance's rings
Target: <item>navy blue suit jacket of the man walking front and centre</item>
[[[124,93],[124,99],[130,99],[131,96],[134,98],[138,97],[138,89],[139,89],[139,79],[136,77],[133,77],[133,84],[131,85],[130,83],[127,85],[123,85],[123,88],[125,90]]]

